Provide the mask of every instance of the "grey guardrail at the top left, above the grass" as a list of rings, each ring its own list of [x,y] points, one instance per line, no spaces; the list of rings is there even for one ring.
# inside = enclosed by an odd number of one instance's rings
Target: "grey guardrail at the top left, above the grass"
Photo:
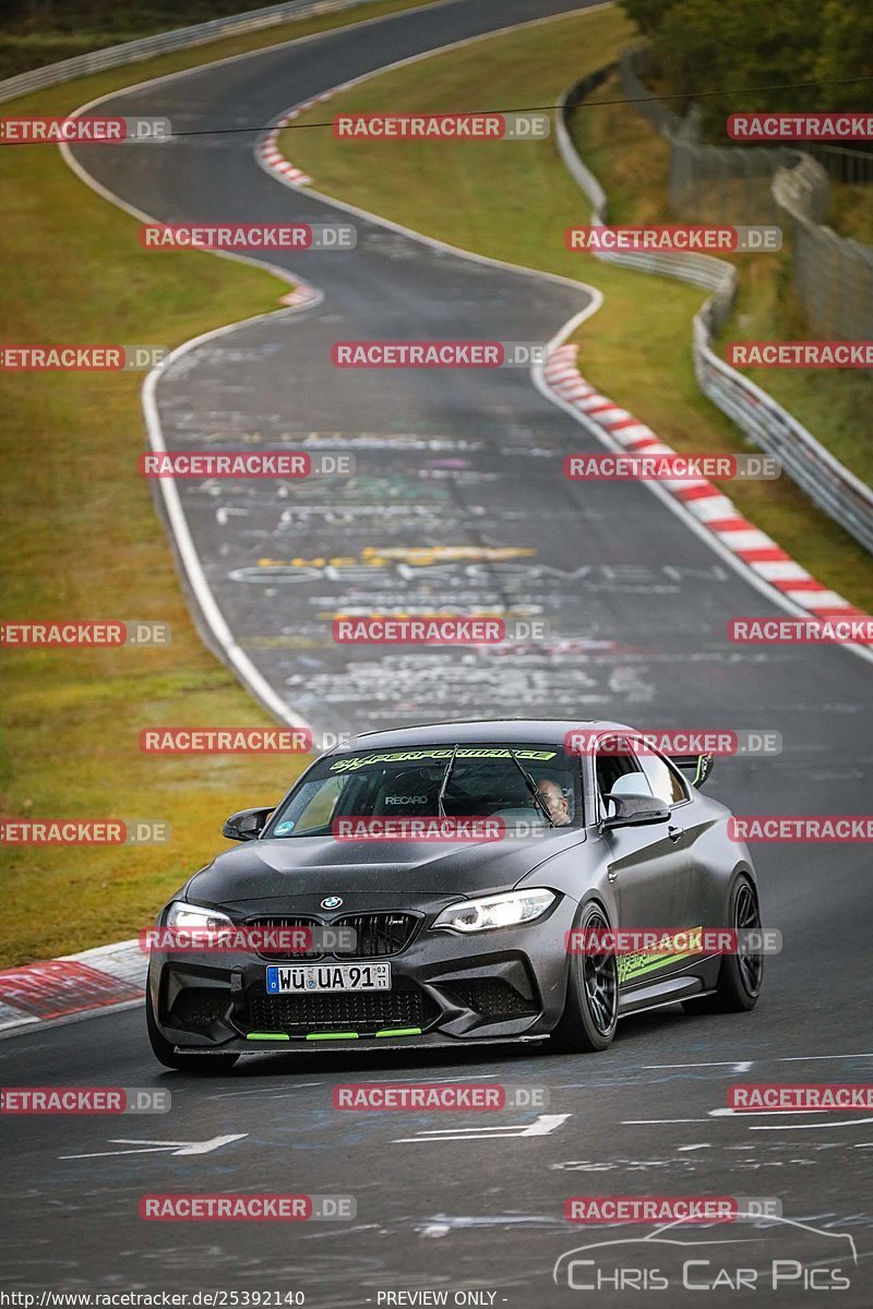
[[[106,46],[103,50],[92,50],[86,55],[62,59],[58,64],[46,64],[43,68],[33,68],[30,72],[8,77],[5,81],[0,81],[0,102],[14,99],[17,96],[27,96],[34,90],[43,90],[46,86],[56,86],[59,82],[72,81],[73,77],[86,77],[89,73],[99,73],[106,68],[119,68],[122,64],[151,59],[152,55],[166,55],[174,50],[202,46],[207,41],[217,41],[220,37],[258,31],[260,27],[274,27],[291,18],[309,18],[314,14],[355,9],[357,5],[372,3],[373,0],[287,0],[285,4],[250,9],[247,13],[230,14],[228,18],[212,18],[209,22],[198,22],[191,27],[158,31],[153,37],[126,41],[120,46]]]

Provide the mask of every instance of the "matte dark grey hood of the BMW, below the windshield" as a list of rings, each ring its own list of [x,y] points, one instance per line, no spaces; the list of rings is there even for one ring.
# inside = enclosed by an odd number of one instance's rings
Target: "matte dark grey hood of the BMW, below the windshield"
[[[297,836],[246,842],[196,873],[186,898],[209,906],[281,901],[284,912],[312,910],[313,898],[342,895],[346,910],[391,895],[423,897],[510,890],[543,860],[582,842],[575,827],[500,842],[338,842]],[[352,903],[353,902],[353,903]],[[279,906],[274,906],[279,912]]]

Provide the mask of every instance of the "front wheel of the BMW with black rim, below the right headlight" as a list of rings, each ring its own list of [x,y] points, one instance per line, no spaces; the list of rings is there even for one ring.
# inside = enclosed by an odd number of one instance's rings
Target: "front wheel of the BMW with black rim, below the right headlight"
[[[582,908],[576,931],[609,932],[605,911],[596,902]],[[571,954],[567,1001],[552,1031],[552,1047],[567,1054],[606,1050],[618,1024],[615,954]]]

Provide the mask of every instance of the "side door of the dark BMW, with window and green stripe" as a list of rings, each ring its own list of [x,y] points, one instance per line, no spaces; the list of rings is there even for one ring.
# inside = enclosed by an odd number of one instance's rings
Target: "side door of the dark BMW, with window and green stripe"
[[[627,741],[624,753],[596,751],[594,779],[599,818],[607,817],[605,796],[615,789],[626,795],[654,795],[644,768],[645,755]],[[657,798],[664,798],[658,796]],[[639,827],[615,827],[603,831],[607,876],[619,905],[619,927],[623,929],[665,928],[682,925],[688,898],[690,860],[681,821]],[[658,980],[669,977],[677,965],[669,956],[628,957],[619,961],[619,978],[624,984]]]

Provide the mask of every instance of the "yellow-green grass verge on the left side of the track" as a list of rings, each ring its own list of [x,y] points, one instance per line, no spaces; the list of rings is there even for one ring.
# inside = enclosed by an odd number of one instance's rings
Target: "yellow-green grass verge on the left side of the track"
[[[64,114],[98,94],[192,64],[410,5],[287,24],[82,79],[4,114]],[[0,339],[174,346],[277,308],[289,288],[209,254],[137,243],[136,220],[75,177],[54,147],[0,149],[5,264]],[[14,274],[14,275],[13,275]],[[4,651],[1,805],[7,816],[162,818],[169,846],[4,851],[0,966],[134,935],[223,842],[221,821],[279,798],[294,757],[147,757],[153,724],[271,720],[200,643],[149,486],[137,373],[3,373],[3,617],[160,619],[168,649]]]

